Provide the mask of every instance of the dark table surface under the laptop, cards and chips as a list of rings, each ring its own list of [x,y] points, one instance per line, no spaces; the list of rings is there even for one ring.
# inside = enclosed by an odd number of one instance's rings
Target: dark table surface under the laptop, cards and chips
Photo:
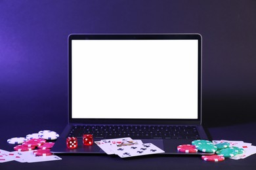
[[[16,129],[14,127],[17,127]],[[8,129],[8,125],[1,126],[0,148],[12,151],[13,145],[6,141],[11,137],[22,137],[28,133],[35,133],[41,129],[51,129],[58,133],[64,126],[58,124],[16,124]],[[253,131],[255,123],[237,124],[232,126],[209,127],[211,138],[214,140],[226,139],[230,141],[244,141],[256,145]],[[1,163],[0,169],[256,169],[256,154],[242,160],[226,159],[221,162],[201,160],[200,156],[142,156],[121,159],[118,156],[57,154],[60,161],[45,161],[41,163],[19,163],[9,161]]]

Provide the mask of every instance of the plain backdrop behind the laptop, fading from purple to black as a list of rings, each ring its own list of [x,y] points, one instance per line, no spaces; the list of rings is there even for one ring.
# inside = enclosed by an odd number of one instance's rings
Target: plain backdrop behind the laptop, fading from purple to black
[[[0,0],[1,125],[65,126],[70,33],[200,33],[203,124],[255,122],[255,9],[253,0]]]

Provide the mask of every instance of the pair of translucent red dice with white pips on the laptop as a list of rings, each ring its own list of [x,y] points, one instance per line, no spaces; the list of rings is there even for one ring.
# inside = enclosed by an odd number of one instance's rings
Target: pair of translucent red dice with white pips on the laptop
[[[67,148],[74,149],[77,148],[77,138],[76,137],[68,137],[66,140]],[[83,145],[91,146],[93,145],[93,135],[85,134],[83,135]]]

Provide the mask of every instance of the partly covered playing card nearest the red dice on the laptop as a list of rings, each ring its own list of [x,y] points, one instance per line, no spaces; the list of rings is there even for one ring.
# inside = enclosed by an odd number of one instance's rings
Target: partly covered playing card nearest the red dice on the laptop
[[[133,141],[131,137],[117,138],[117,139],[104,139],[101,141],[95,141],[95,143],[102,149],[106,154],[115,154],[112,150],[112,144],[121,144],[124,141]]]

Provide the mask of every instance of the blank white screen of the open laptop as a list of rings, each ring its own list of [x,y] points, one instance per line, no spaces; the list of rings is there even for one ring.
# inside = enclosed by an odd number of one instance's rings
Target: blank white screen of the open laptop
[[[72,39],[72,118],[198,119],[199,45]]]

